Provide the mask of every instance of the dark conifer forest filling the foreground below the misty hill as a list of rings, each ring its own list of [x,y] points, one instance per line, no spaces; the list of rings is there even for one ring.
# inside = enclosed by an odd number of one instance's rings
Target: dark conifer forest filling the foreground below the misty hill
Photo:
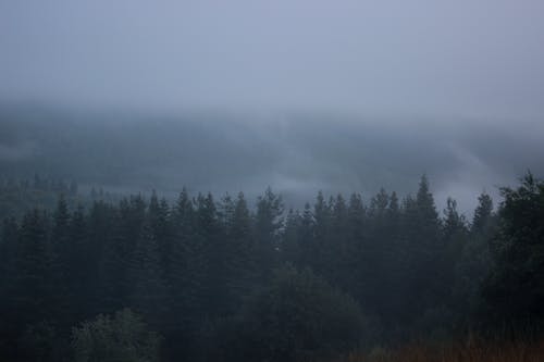
[[[271,188],[256,202],[83,196],[39,176],[0,189],[2,361],[446,361],[395,358],[421,344],[480,346],[447,361],[496,344],[494,361],[542,355],[531,173],[470,216],[452,198],[437,210],[425,175],[404,197],[319,192],[301,210]]]

